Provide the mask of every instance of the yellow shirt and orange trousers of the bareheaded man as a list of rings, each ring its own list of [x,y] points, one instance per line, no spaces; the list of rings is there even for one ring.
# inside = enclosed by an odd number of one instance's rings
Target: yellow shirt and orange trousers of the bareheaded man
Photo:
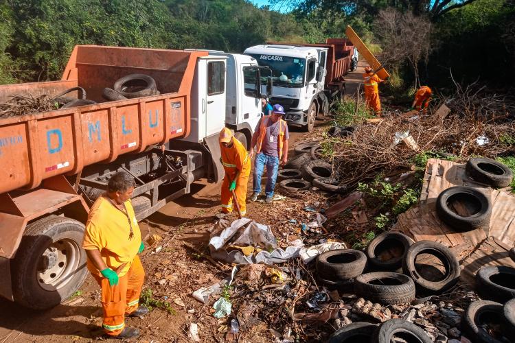
[[[100,270],[87,260],[88,270],[102,288],[102,328],[108,335],[118,335],[124,330],[125,316],[139,306],[139,294],[145,279],[145,271],[137,255],[141,231],[130,200],[125,202],[125,208],[127,214],[104,197],[98,198],[89,211],[82,242],[82,248],[86,250],[98,249],[107,267],[118,274],[118,284],[111,286]],[[132,238],[129,237],[131,226]]]

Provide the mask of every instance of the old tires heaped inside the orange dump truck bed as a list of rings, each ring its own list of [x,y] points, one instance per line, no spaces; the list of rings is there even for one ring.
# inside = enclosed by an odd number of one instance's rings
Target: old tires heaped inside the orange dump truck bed
[[[102,97],[110,102],[159,94],[154,78],[145,74],[126,75],[116,80],[113,88],[104,88],[102,91]]]

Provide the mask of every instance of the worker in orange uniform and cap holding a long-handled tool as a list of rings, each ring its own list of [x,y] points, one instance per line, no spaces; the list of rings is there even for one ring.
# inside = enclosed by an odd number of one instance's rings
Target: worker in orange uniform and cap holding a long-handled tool
[[[231,130],[222,128],[220,131],[220,162],[225,169],[225,178],[222,183],[222,213],[231,213],[233,211],[233,195],[236,193],[240,213],[244,216],[247,213],[247,184],[249,183],[249,175],[251,174],[251,158],[247,153],[247,149],[238,141]]]

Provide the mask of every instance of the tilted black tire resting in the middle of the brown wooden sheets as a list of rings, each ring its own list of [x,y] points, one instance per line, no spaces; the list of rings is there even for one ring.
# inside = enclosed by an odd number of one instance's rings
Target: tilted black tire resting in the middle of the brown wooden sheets
[[[451,209],[454,201],[463,201],[472,210],[472,215],[461,216]],[[481,191],[472,187],[450,187],[439,194],[436,211],[442,222],[458,231],[474,230],[490,224],[492,204]]]

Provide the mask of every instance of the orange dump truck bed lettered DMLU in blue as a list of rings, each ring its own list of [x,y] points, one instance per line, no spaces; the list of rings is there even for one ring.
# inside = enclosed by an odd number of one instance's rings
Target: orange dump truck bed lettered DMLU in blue
[[[76,46],[54,82],[0,86],[0,102],[14,95],[49,95],[80,86],[98,104],[0,119],[0,193],[32,189],[58,174],[112,162],[190,132],[196,60],[205,51]],[[132,73],[150,75],[161,95],[106,102],[105,87]]]

